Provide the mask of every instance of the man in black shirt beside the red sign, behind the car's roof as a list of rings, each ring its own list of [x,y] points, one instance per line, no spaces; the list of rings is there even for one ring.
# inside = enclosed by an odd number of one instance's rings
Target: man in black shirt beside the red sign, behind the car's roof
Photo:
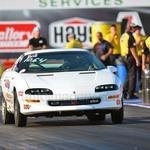
[[[35,27],[32,31],[33,37],[29,40],[30,50],[40,50],[47,48],[47,40],[41,36],[40,28]]]

